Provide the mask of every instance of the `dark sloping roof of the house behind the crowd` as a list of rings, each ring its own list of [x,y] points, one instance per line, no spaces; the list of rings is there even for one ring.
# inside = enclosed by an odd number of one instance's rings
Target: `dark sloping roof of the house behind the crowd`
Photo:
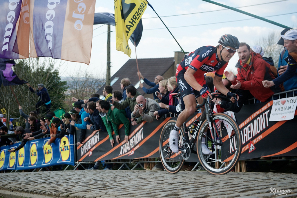
[[[174,57],[169,58],[142,58],[137,59],[138,67],[141,74],[151,82],[154,82],[154,79],[158,75],[163,75],[170,66],[174,63]],[[118,79],[117,79],[118,78]],[[137,65],[136,59],[129,59],[120,69],[117,71],[111,78],[110,81],[111,86],[113,87],[113,91],[119,90],[121,91],[121,80],[123,78],[129,78],[133,85],[136,85],[139,82],[139,78],[137,76]],[[148,85],[144,84],[145,87],[148,88]],[[105,87],[105,83],[100,87],[97,91],[98,94],[102,95],[102,90]],[[144,91],[138,87],[137,89],[142,95]]]

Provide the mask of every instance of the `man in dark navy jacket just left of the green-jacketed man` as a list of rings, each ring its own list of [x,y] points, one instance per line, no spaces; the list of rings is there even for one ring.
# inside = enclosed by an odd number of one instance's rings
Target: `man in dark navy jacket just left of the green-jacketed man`
[[[88,110],[89,110],[89,113],[90,113],[90,119],[91,121],[94,123],[94,125],[87,125],[87,129],[90,129],[90,130],[99,130],[101,129],[101,131],[107,131],[106,130],[106,127],[104,125],[104,122],[101,118],[101,116],[99,115],[99,111],[96,109],[96,103],[91,101],[91,102],[88,102]]]

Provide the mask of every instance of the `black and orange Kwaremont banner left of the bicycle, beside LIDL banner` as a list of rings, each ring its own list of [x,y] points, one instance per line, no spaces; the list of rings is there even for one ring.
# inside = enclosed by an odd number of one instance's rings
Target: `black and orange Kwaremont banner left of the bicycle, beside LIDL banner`
[[[187,126],[192,124],[200,114],[191,116]],[[78,148],[78,161],[96,162],[106,159],[137,159],[160,157],[159,139],[162,128],[170,119],[154,120],[152,123],[142,122],[137,126],[130,126],[128,143],[125,143],[124,125],[119,126],[120,143],[116,143],[116,135],[113,132],[115,144],[111,147],[107,132],[87,130],[86,140]],[[80,131],[78,131],[79,137]],[[191,154],[188,161],[198,162],[197,154]]]

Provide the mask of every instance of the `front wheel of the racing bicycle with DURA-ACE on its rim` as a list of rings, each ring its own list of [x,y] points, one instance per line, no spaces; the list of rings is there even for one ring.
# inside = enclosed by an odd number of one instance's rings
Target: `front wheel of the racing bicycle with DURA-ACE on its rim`
[[[234,119],[223,113],[212,116],[211,126],[215,134],[211,134],[207,120],[198,132],[198,158],[209,173],[226,174],[235,167],[241,154],[240,130]],[[206,137],[206,142],[202,142],[203,137]],[[202,153],[201,146],[205,143],[213,154],[206,156]]]

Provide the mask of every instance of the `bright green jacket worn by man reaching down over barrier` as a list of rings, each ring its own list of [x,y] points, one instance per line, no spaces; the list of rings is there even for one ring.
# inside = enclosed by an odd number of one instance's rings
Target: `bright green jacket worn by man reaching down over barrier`
[[[113,127],[114,133],[116,135],[119,135],[119,129],[118,125],[119,124],[124,124],[125,126],[125,135],[129,135],[130,133],[130,122],[125,116],[126,112],[124,110],[119,110],[117,108],[114,108],[113,111],[111,108],[108,110],[108,113],[106,114],[105,117],[102,117],[102,120],[105,124],[105,127],[107,129],[109,139],[111,140],[112,137],[112,131],[111,129],[108,129],[108,122],[111,122],[111,125]]]

